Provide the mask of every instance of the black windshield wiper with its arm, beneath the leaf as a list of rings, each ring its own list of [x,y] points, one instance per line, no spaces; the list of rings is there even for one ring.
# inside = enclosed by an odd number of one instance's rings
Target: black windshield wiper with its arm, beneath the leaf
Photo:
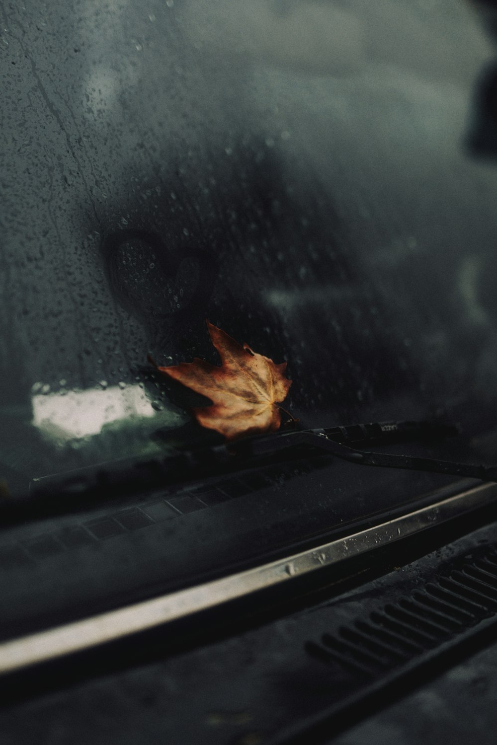
[[[280,431],[247,437],[234,443],[176,451],[163,458],[81,469],[57,478],[42,479],[27,495],[0,503],[0,526],[45,519],[86,510],[99,502],[153,489],[183,484],[196,478],[227,475],[277,463],[288,458],[328,454],[364,466],[411,469],[497,481],[496,466],[451,463],[410,455],[358,450],[368,443],[439,440],[458,434],[453,425],[433,422],[372,422],[348,427]]]

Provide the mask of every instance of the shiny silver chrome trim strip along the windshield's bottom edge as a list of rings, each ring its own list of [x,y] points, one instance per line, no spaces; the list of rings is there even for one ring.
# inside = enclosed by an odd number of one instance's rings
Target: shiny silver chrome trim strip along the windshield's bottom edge
[[[295,577],[303,577],[323,566],[335,565],[387,542],[398,541],[434,524],[484,507],[496,498],[497,484],[481,484],[405,516],[285,559],[6,641],[0,644],[0,675],[159,627]]]

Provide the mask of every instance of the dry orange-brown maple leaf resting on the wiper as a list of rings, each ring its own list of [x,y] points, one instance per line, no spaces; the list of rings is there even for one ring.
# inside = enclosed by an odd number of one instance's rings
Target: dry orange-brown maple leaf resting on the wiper
[[[221,356],[221,367],[194,358],[193,362],[157,369],[211,399],[212,406],[196,408],[193,413],[200,425],[215,429],[227,440],[275,431],[281,423],[277,404],[285,399],[291,386],[283,375],[286,362],[276,365],[247,344],[241,346],[209,321],[206,323]]]

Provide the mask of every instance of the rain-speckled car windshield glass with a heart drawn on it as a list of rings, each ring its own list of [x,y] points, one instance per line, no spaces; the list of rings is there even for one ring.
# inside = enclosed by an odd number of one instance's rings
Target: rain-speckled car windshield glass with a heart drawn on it
[[[459,422],[458,457],[492,460],[493,44],[469,4],[28,0],[0,22],[4,495],[210,442],[148,361],[219,364],[206,320],[288,362],[304,428]],[[1,550],[48,614],[74,551],[80,604],[104,602],[451,481],[304,459],[10,529]],[[27,600],[10,575],[2,592],[8,629]]]

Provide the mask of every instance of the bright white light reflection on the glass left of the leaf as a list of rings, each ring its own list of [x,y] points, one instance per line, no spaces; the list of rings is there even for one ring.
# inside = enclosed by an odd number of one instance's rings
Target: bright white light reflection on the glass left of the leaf
[[[40,431],[70,440],[98,434],[101,428],[118,419],[153,416],[154,410],[138,385],[124,389],[71,390],[32,398],[33,424]]]

